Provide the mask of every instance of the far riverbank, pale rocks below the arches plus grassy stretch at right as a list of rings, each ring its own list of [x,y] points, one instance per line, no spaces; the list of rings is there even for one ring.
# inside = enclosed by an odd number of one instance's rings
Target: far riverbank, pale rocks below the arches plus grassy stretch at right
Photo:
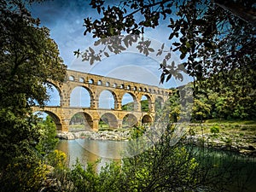
[[[256,125],[189,124],[186,130],[189,143],[256,157]],[[87,138],[128,141],[131,139],[131,131],[128,129],[97,132],[73,130],[68,133],[59,133],[57,137],[66,140]]]

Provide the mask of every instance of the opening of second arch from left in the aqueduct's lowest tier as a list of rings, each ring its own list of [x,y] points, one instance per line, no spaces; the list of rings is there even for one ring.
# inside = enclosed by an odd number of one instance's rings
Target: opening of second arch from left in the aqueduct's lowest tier
[[[77,118],[76,116],[79,116],[79,117]],[[93,130],[94,128],[93,119],[90,113],[85,113],[85,112],[74,113],[69,121],[69,128],[73,127],[73,125],[76,125],[76,124],[84,125],[83,129],[88,131]]]

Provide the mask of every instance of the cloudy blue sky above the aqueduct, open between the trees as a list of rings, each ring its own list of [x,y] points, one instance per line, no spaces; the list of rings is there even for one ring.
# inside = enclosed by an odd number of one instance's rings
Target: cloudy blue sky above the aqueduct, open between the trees
[[[116,1],[107,1],[115,3]],[[135,49],[126,51],[120,55],[110,55],[92,66],[86,61],[81,61],[73,55],[73,51],[87,49],[93,46],[95,39],[88,34],[84,36],[84,18],[91,16],[99,17],[95,9],[91,9],[89,0],[49,0],[44,3],[32,5],[32,16],[41,20],[41,25],[50,30],[50,37],[58,44],[62,59],[68,68],[86,73],[95,73],[103,76],[117,79],[136,81],[143,84],[159,85],[165,88],[176,87],[177,85],[186,84],[178,82],[176,79],[166,84],[160,82],[160,58],[154,55],[142,55]],[[163,43],[170,46],[168,39],[170,31],[166,27],[166,21],[160,23],[156,29],[145,30],[146,38],[153,43],[152,46],[159,46]],[[176,55],[172,56],[173,60],[179,60]]]

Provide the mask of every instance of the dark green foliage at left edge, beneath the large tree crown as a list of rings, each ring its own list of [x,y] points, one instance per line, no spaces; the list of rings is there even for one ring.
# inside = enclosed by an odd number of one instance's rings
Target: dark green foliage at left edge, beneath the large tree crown
[[[32,116],[20,116],[9,108],[0,109],[0,162],[7,166],[15,157],[33,154],[39,132]]]

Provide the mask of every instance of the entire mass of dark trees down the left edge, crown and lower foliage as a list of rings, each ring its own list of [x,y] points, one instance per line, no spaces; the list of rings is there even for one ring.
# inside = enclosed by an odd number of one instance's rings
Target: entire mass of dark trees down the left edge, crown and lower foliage
[[[32,106],[48,99],[46,86],[61,82],[66,66],[49,29],[27,7],[39,1],[0,2],[0,162],[33,160],[40,133]],[[17,159],[17,157],[19,157]],[[4,175],[0,173],[0,181]]]

